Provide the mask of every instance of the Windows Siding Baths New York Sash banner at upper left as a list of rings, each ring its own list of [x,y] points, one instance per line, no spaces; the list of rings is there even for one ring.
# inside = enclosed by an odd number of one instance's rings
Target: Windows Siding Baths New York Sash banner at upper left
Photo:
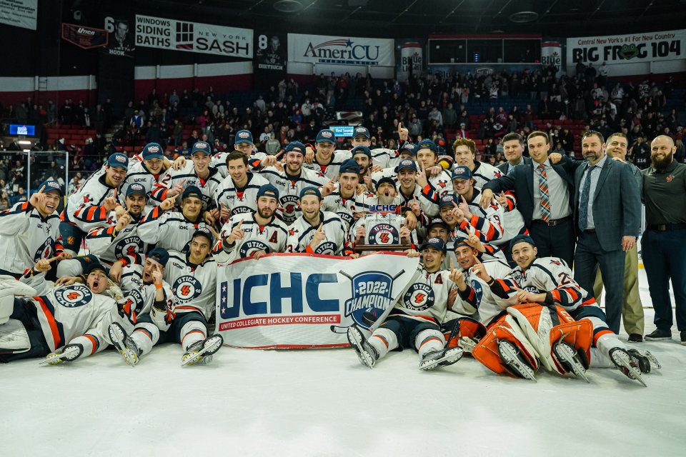
[[[136,46],[252,59],[252,29],[136,14]]]

